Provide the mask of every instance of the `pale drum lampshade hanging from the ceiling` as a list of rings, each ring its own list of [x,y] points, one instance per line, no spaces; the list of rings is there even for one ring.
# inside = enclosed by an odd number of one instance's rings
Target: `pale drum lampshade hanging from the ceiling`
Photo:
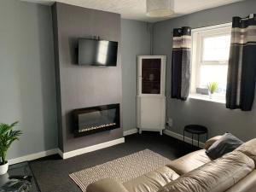
[[[149,17],[167,17],[174,14],[174,0],[147,0]]]

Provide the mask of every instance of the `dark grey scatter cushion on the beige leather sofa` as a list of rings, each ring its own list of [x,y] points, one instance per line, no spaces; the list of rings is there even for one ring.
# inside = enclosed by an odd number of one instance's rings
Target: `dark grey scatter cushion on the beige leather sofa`
[[[239,138],[233,136],[231,133],[225,133],[218,139],[218,141],[213,143],[212,146],[207,149],[207,155],[215,160],[238,148],[242,143],[243,142]]]

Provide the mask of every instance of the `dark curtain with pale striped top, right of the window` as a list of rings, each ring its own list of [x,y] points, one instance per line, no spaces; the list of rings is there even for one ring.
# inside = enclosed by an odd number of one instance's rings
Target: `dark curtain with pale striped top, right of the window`
[[[226,107],[250,111],[256,78],[256,15],[232,23]]]

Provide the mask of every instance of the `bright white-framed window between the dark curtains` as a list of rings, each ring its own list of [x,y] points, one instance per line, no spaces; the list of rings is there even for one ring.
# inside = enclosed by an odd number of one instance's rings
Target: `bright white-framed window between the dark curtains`
[[[217,82],[215,99],[224,102],[230,56],[231,24],[192,30],[190,96],[206,97],[207,85]]]

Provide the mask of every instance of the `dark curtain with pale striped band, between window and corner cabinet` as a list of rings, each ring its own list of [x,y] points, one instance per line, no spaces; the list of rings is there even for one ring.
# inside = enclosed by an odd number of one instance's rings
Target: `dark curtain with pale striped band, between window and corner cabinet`
[[[173,30],[172,98],[186,100],[189,96],[191,60],[191,28]]]

